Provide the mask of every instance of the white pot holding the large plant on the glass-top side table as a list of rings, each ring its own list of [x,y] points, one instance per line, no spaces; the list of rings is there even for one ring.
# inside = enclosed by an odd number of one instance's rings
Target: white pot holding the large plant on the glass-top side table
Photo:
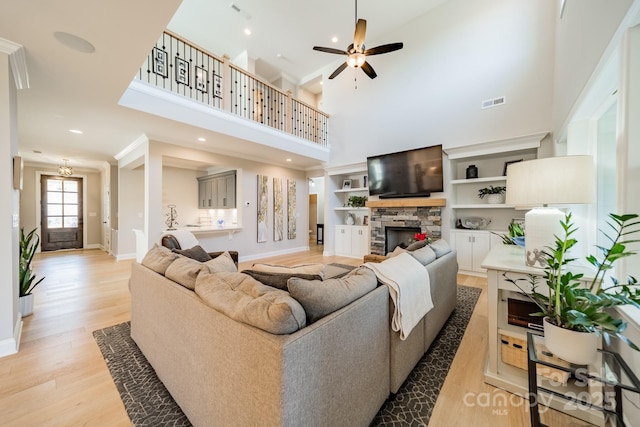
[[[578,365],[588,365],[598,355],[598,336],[560,328],[544,319],[544,344],[555,356]]]

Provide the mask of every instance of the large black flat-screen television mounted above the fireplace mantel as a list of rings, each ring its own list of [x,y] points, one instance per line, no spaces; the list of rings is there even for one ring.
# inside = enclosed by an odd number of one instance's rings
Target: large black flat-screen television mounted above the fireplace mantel
[[[442,191],[442,145],[367,157],[369,194],[428,197]]]

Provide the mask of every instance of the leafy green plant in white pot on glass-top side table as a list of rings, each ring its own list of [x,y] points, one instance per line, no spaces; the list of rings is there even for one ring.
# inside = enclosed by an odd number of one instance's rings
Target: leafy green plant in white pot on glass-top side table
[[[543,278],[546,289],[538,288],[537,276],[514,280],[504,274],[505,280],[517,286],[540,309],[531,314],[544,317],[545,345],[549,351],[571,363],[586,365],[593,362],[600,336],[606,343],[610,342],[611,335],[616,336],[640,351],[622,335],[627,324],[607,310],[625,304],[640,307],[640,290],[635,286],[637,280],[629,277],[626,283],[622,283],[612,277],[611,285],[603,286],[607,271],[613,268],[615,261],[636,254],[629,251],[627,245],[639,240],[630,240],[628,236],[640,231],[640,221],[636,214],[609,214],[609,218],[608,225],[614,237],[605,235],[610,246],[597,246],[600,256],[590,255],[586,258],[596,269],[588,287],[581,286],[583,274],[573,274],[566,268],[568,263],[575,261],[575,258],[568,257],[568,251],[577,243],[573,237],[576,228],[571,223],[571,214],[561,221],[563,235],[556,236],[555,246],[548,247],[549,250],[544,252],[546,267]],[[519,283],[521,280],[529,281],[531,292],[523,289]]]

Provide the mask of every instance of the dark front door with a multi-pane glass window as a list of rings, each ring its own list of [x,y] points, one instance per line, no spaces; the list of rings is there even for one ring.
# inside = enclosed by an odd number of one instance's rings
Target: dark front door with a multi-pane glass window
[[[41,177],[43,251],[82,248],[82,179]]]

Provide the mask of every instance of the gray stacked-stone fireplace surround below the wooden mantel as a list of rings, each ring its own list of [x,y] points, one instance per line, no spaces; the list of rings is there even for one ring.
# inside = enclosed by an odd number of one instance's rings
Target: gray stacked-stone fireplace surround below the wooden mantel
[[[393,248],[387,250],[387,228],[400,233],[400,239],[413,237],[415,233],[426,233],[433,240],[442,237],[441,207],[372,207],[371,208],[371,253],[385,255],[393,251],[398,243],[391,242]],[[410,233],[410,234],[409,234]],[[392,231],[392,234],[393,231]],[[396,238],[396,237],[393,237]]]

